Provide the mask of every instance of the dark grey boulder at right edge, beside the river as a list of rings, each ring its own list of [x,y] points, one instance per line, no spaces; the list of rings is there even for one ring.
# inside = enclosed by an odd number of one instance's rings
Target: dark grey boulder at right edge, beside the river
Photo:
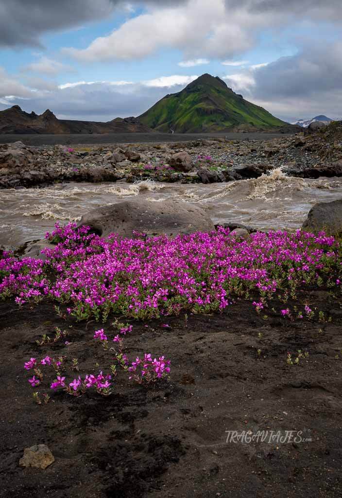
[[[306,232],[324,230],[329,235],[342,233],[342,199],[332,202],[319,202],[310,209],[302,226]]]

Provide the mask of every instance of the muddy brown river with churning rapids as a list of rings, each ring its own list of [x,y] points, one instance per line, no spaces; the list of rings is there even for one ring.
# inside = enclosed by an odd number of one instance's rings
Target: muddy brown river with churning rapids
[[[260,230],[300,228],[317,202],[342,198],[341,178],[286,176],[280,168],[257,179],[229,183],[65,183],[0,190],[0,245],[17,247],[44,238],[56,221],[78,221],[98,206],[123,199],[179,199],[207,210],[214,223],[237,222]]]

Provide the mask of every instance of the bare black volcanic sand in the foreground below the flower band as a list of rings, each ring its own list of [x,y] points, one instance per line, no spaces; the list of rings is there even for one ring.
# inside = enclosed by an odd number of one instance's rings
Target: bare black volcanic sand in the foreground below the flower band
[[[318,294],[324,309],[326,294]],[[341,497],[342,312],[330,311],[327,324],[263,320],[240,301],[222,315],[164,319],[169,329],[135,323],[129,357],[167,355],[170,383],[147,389],[119,372],[107,398],[56,393],[38,406],[24,361],[65,354],[84,374],[96,362],[105,371],[110,353],[92,340],[95,322],[54,318],[51,303],[0,304],[0,497]],[[37,346],[56,325],[72,344]],[[109,322],[104,329],[113,336]],[[287,351],[299,349],[309,357],[286,365]],[[312,441],[226,443],[226,430],[267,429],[303,431]],[[55,462],[19,467],[24,448],[40,443]]]

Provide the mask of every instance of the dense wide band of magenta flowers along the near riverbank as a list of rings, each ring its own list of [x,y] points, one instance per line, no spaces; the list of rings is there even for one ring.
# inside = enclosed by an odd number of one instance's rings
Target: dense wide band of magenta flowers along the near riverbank
[[[222,310],[251,294],[257,310],[264,310],[280,294],[286,302],[305,285],[342,281],[339,244],[323,232],[255,233],[251,241],[237,242],[220,227],[173,239],[103,239],[87,230],[57,225],[47,234],[57,246],[44,249],[45,263],[4,253],[0,297],[52,299],[78,320],[105,321],[111,312],[149,319]]]

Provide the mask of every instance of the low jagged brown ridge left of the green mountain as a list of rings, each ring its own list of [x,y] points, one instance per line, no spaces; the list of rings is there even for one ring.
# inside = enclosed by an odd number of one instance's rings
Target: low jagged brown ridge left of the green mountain
[[[69,133],[148,133],[153,131],[137,118],[115,118],[107,123],[59,120],[47,109],[43,114],[25,113],[19,106],[0,111],[0,133],[69,134]]]

